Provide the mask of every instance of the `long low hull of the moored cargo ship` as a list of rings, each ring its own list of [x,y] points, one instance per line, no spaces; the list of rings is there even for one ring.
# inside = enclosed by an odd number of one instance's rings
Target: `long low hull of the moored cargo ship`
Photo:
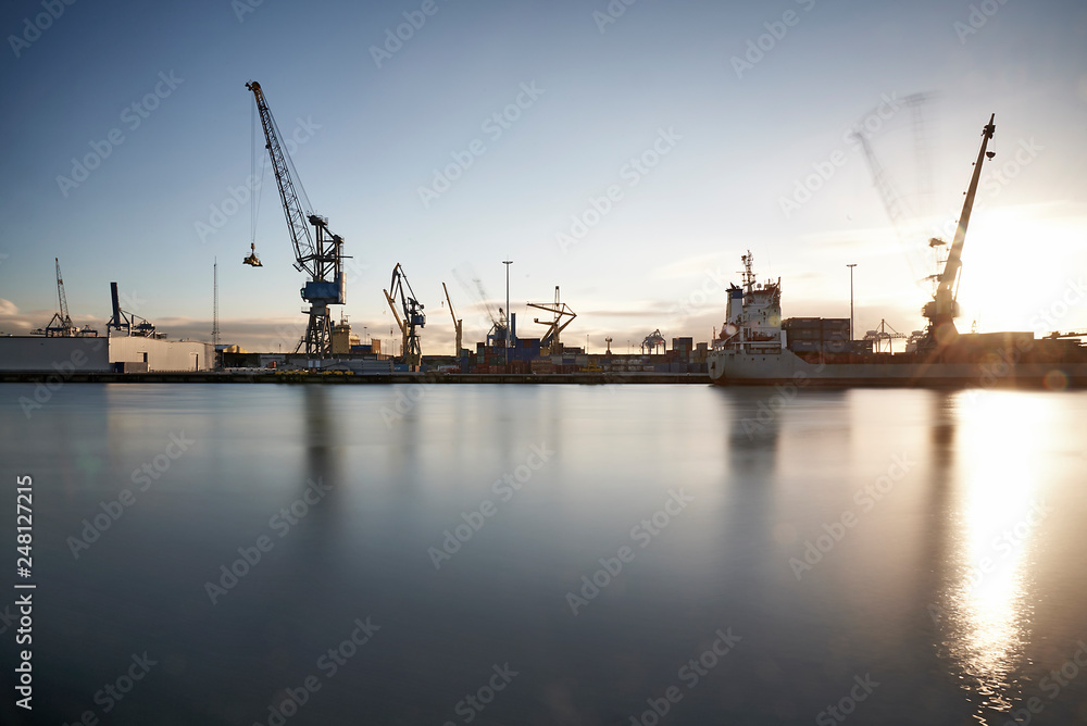
[[[1001,358],[986,363],[926,361],[915,355],[801,358],[788,349],[770,354],[711,351],[710,380],[720,386],[830,387],[1085,387],[1087,361],[1022,362]],[[901,362],[896,362],[899,359]]]

